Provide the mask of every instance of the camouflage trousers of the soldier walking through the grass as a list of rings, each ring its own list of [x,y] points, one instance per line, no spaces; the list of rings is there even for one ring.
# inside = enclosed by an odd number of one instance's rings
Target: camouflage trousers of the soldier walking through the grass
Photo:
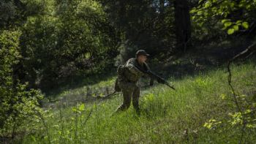
[[[123,103],[117,108],[116,112],[124,111],[132,105],[135,108],[136,112],[139,114],[139,98],[140,98],[140,88],[136,85],[136,83],[129,83],[125,81],[119,81],[119,86],[123,93],[124,101]]]

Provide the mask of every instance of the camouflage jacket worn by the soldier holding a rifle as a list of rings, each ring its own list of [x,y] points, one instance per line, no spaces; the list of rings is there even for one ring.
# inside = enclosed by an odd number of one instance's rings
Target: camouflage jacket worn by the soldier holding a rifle
[[[129,82],[136,83],[140,77],[148,76],[147,74],[141,72],[137,67],[143,71],[149,70],[148,64],[143,63],[143,65],[140,65],[136,58],[130,58],[127,63],[124,64],[123,78]]]

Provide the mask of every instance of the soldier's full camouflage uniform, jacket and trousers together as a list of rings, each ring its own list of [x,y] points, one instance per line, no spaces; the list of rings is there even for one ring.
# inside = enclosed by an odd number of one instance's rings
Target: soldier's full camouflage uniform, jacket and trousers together
[[[121,74],[118,75],[118,85],[123,93],[124,101],[116,111],[127,110],[132,100],[132,105],[136,112],[140,113],[140,88],[138,87],[137,82],[140,77],[145,76],[146,74],[141,72],[137,67],[143,69],[143,71],[149,70],[146,63],[140,65],[136,58],[130,58],[124,65],[124,72],[121,72]]]

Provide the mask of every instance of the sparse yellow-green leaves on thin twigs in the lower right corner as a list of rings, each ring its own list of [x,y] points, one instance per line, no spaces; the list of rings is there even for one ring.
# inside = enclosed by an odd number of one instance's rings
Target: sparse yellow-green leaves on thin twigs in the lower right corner
[[[255,72],[254,72],[255,73]],[[252,74],[253,75],[253,74]],[[234,78],[233,78],[234,79]],[[232,80],[235,81],[235,80]],[[247,80],[244,80],[247,81]],[[248,80],[249,84],[246,87],[254,86],[256,81],[255,78]],[[246,82],[244,82],[246,83]],[[244,134],[246,132],[254,131],[256,128],[256,99],[255,94],[241,94],[240,89],[237,89],[236,81],[235,83],[231,83],[234,88],[232,88],[231,94],[221,94],[220,97],[225,101],[230,100],[233,102],[232,107],[233,110],[230,113],[226,113],[224,118],[219,118],[219,116],[214,117],[218,118],[221,121],[216,121],[215,119],[210,119],[203,126],[207,129],[217,129],[217,132],[223,133],[223,129],[241,129],[241,137],[239,142],[243,143],[246,138],[244,138]],[[244,91],[243,91],[244,93]],[[223,122],[222,122],[223,121]],[[247,142],[247,140],[246,140]]]

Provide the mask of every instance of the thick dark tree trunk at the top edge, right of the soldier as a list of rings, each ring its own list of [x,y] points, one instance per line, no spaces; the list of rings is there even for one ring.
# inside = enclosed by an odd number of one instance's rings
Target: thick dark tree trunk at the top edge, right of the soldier
[[[176,26],[176,48],[184,53],[190,45],[191,22],[189,5],[187,0],[174,1],[175,26]]]

